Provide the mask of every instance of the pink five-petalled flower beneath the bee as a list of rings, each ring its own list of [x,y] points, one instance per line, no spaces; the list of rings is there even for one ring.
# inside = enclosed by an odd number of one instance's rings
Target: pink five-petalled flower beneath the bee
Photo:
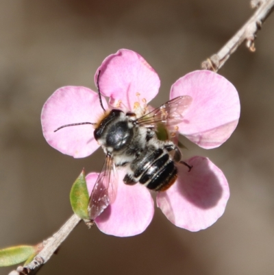
[[[141,115],[147,103],[155,97],[160,79],[151,66],[136,52],[121,49],[105,60],[99,86],[102,95],[110,97],[112,108]],[[240,117],[240,102],[234,86],[211,71],[193,71],[179,78],[171,87],[170,99],[179,95],[192,97],[184,119],[169,127],[171,132],[184,134],[200,147],[219,147],[232,134]],[[164,102],[163,102],[164,103]],[[108,104],[103,99],[103,106]],[[47,142],[64,154],[82,158],[92,154],[99,145],[92,125],[78,125],[53,132],[62,125],[97,122],[103,115],[99,96],[88,88],[59,88],[42,108],[42,131]],[[197,231],[216,222],[229,198],[229,187],[223,172],[208,158],[195,156],[186,163],[191,171],[178,165],[178,178],[167,190],[157,193],[157,204],[176,226]],[[101,160],[103,164],[103,160]],[[149,190],[141,184],[123,183],[125,171],[119,169],[116,200],[95,222],[102,232],[120,237],[140,234],[153,217],[154,205]],[[98,174],[86,176],[91,193]]]

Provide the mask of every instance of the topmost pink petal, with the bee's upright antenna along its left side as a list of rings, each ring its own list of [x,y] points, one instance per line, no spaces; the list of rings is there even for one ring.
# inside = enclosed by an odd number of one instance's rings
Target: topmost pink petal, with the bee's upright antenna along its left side
[[[100,91],[110,97],[114,108],[134,110],[134,104],[135,107],[143,105],[158,94],[158,74],[135,51],[120,49],[105,58],[95,74],[95,83],[99,71]]]

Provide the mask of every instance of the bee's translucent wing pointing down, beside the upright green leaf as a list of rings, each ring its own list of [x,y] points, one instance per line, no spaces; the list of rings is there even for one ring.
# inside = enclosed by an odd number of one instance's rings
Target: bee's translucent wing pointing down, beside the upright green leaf
[[[98,217],[116,198],[116,167],[112,156],[105,158],[105,163],[90,195],[88,212],[90,219]]]

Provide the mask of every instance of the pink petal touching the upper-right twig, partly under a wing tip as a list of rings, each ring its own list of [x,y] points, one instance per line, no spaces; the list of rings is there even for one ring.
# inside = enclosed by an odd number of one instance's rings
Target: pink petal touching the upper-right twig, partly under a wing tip
[[[171,99],[190,95],[192,104],[179,123],[179,133],[210,149],[224,143],[235,130],[240,117],[236,88],[212,71],[193,71],[171,87]]]

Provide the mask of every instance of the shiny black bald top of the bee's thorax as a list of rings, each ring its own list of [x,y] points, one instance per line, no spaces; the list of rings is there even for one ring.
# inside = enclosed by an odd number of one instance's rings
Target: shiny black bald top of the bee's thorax
[[[121,150],[127,145],[133,136],[132,128],[128,127],[127,121],[119,121],[112,125],[106,136],[106,145],[114,150]]]

